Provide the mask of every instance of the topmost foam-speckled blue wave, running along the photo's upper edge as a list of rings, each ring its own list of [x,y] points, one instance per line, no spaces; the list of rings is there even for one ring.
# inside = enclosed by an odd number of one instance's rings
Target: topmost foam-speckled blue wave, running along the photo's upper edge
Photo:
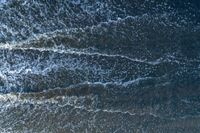
[[[51,3],[55,7],[50,6]],[[62,4],[61,4],[62,3]],[[59,31],[63,29],[72,30],[73,29],[88,29],[87,27],[98,27],[98,25],[116,22],[119,20],[126,20],[127,18],[146,18],[147,22],[142,22],[140,24],[145,24],[152,19],[159,19],[164,21],[164,24],[167,25],[187,25],[194,21],[188,20],[188,16],[184,17],[179,15],[180,13],[176,10],[170,9],[170,5],[167,2],[138,2],[139,6],[137,7],[135,2],[119,2],[118,4],[124,4],[125,10],[121,10],[120,7],[117,7],[118,3],[116,1],[105,1],[105,2],[84,2],[80,1],[77,4],[77,1],[60,1],[60,2],[44,2],[44,1],[10,1],[5,7],[1,9],[1,42],[15,42],[20,40],[27,40],[34,35],[44,34],[48,32]],[[130,7],[129,4],[134,5],[136,9],[141,9],[140,13],[134,12],[134,8]],[[137,3],[137,2],[136,2]],[[73,5],[73,6],[72,6]],[[151,6],[157,6],[157,9],[150,8]],[[96,8],[92,8],[96,7]],[[147,8],[147,9],[145,9]],[[168,9],[167,9],[168,8]],[[5,12],[5,10],[6,12]],[[59,10],[58,10],[59,9]],[[98,10],[97,10],[98,9]],[[149,10],[155,10],[154,13],[150,13]],[[47,10],[52,10],[51,13]],[[130,11],[126,11],[130,10]],[[105,13],[106,11],[106,13]],[[38,12],[38,13],[36,13]],[[119,14],[121,12],[122,14]],[[38,14],[38,16],[37,16]],[[79,14],[79,15],[77,15]],[[106,15],[105,15],[106,14]],[[6,17],[10,16],[10,17]],[[179,18],[177,18],[179,16]],[[190,15],[191,16],[191,15]],[[16,20],[12,20],[15,18]],[[14,26],[9,22],[12,20]],[[167,22],[167,21],[172,22]],[[18,23],[15,23],[18,21]],[[32,25],[33,23],[34,25]],[[144,21],[144,20],[143,20]],[[155,20],[154,20],[155,21]],[[158,20],[157,20],[158,21]],[[8,22],[8,23],[6,23]],[[136,23],[138,23],[136,21]],[[156,24],[157,22],[154,22]],[[151,23],[152,24],[152,23]],[[136,25],[140,26],[139,24]],[[142,25],[141,25],[142,26]],[[150,27],[150,26],[149,26]],[[155,27],[155,26],[154,26]],[[130,28],[130,27],[129,27]],[[140,28],[139,28],[140,29]],[[89,29],[88,29],[89,30]],[[102,30],[98,30],[103,32]],[[135,31],[135,30],[134,30]],[[115,32],[116,33],[116,32]]]

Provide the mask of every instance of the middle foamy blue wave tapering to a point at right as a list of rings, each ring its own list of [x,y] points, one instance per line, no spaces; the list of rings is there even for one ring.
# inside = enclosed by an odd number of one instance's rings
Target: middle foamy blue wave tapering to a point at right
[[[175,70],[184,64],[165,58],[153,62],[123,55],[70,49],[23,48],[14,45],[1,45],[0,52],[1,90],[5,92],[21,89],[39,91],[85,81],[120,84],[137,77],[160,77],[170,74],[173,71],[170,70],[172,66]],[[164,66],[165,71],[162,70]]]

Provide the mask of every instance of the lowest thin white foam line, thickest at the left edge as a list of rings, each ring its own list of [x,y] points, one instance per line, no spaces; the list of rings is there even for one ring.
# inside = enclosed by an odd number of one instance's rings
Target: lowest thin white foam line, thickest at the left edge
[[[42,99],[42,100],[35,100],[35,99],[21,99],[20,95],[15,95],[15,94],[1,94],[0,95],[0,102],[6,102],[4,103],[4,105],[2,106],[3,110],[2,111],[6,111],[8,108],[10,107],[17,107],[17,106],[21,106],[23,104],[34,104],[34,105],[43,105],[43,104],[56,104],[58,107],[66,107],[66,106],[71,106],[74,109],[80,109],[80,110],[85,110],[87,112],[91,112],[91,113],[99,113],[99,112],[103,112],[103,113],[119,113],[119,114],[123,114],[123,115],[130,115],[130,116],[144,116],[144,115],[150,115],[153,117],[158,117],[158,115],[152,113],[152,112],[141,112],[141,113],[134,113],[128,110],[120,110],[120,109],[100,109],[100,108],[87,108],[84,106],[77,106],[74,105],[70,102],[66,102],[65,104],[60,104],[59,101],[57,101],[54,98],[50,98],[50,99]]]

